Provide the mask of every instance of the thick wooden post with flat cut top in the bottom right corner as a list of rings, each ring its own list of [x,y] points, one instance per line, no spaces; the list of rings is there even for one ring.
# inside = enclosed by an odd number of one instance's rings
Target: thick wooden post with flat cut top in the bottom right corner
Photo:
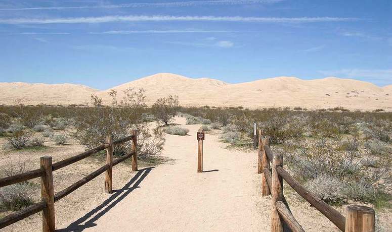
[[[361,206],[347,206],[345,232],[374,232],[374,209]]]

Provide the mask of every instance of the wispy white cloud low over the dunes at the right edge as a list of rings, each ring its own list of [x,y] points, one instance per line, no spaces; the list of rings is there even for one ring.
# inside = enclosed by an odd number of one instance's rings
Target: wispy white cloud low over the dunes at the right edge
[[[360,79],[381,85],[392,84],[392,69],[340,69],[319,72],[325,76]]]

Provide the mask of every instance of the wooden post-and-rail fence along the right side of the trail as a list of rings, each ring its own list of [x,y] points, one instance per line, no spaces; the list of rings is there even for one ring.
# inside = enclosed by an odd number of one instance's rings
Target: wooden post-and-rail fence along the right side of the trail
[[[272,196],[271,231],[304,231],[291,213],[283,194],[283,180],[308,201],[313,207],[326,216],[341,231],[373,232],[375,212],[366,206],[350,205],[347,207],[346,217],[327,203],[309,192],[299,184],[283,168],[283,156],[271,151],[269,139],[263,138],[262,130],[258,131],[258,165],[257,172],[262,173],[262,196]],[[272,163],[272,167],[270,164]]]

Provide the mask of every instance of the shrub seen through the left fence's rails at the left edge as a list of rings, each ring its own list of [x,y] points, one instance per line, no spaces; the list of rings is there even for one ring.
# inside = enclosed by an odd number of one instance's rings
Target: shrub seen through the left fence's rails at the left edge
[[[6,162],[0,167],[2,177],[12,177],[17,174],[29,171],[30,163],[26,161],[18,161],[16,164],[11,161]],[[0,210],[14,211],[33,203],[34,187],[28,182],[21,182],[0,188]]]

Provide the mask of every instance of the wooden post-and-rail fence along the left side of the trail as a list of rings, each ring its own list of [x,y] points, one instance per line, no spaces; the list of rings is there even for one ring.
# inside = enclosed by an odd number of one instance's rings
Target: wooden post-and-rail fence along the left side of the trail
[[[42,231],[55,231],[55,202],[64,198],[68,194],[72,193],[76,189],[80,188],[84,184],[90,182],[94,178],[98,177],[101,173],[105,172],[105,192],[112,193],[112,168],[118,163],[131,157],[132,159],[132,170],[138,170],[137,162],[137,131],[132,131],[130,136],[113,141],[112,136],[107,136],[106,143],[85,151],[81,154],[72,156],[70,158],[61,160],[52,164],[52,157],[45,156],[40,157],[40,168],[32,171],[20,173],[13,177],[7,177],[0,179],[0,188],[20,182],[25,182],[34,178],[41,178],[41,201],[23,208],[17,212],[9,214],[0,219],[0,228],[4,228],[10,224],[13,224],[23,218],[26,218],[34,213],[42,211]],[[113,146],[132,140],[132,151],[126,155],[123,155],[113,160]],[[86,157],[91,156],[99,151],[106,149],[106,164],[90,173],[90,175],[84,177],[80,181],[70,185],[68,188],[54,194],[53,188],[53,171],[56,171],[62,167],[68,166],[74,162],[80,161]]]

